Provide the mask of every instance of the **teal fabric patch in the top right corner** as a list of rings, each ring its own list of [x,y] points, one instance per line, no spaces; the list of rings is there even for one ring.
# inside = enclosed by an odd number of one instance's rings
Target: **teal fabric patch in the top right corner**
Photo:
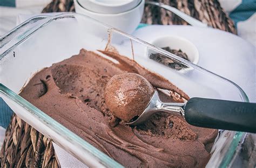
[[[238,22],[247,20],[256,12],[256,0],[243,0],[231,13],[230,18],[235,25]]]

